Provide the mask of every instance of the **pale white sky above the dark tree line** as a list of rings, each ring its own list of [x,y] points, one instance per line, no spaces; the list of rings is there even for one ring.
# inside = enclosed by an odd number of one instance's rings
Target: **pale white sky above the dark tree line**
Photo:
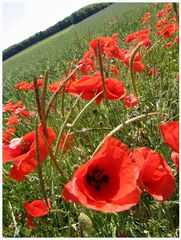
[[[1,47],[4,50],[98,2],[106,0],[1,0]]]

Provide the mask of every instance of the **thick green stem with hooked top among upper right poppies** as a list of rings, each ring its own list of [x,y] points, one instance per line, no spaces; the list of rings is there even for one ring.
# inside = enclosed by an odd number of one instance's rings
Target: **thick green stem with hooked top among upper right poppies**
[[[140,47],[142,45],[142,42],[139,43],[135,49],[133,50],[133,53],[130,57],[130,60],[129,60],[129,67],[130,67],[130,76],[131,76],[131,82],[132,82],[132,86],[133,86],[133,90],[134,90],[134,94],[135,96],[137,97],[137,89],[136,89],[136,80],[135,80],[135,77],[134,77],[134,58],[136,56],[136,53],[139,51]]]

